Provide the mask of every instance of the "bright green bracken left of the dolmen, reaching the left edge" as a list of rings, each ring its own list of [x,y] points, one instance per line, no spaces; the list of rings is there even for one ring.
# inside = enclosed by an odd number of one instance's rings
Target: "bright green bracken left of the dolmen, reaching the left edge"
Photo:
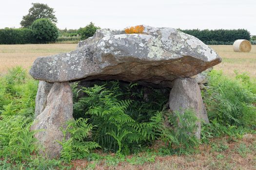
[[[27,160],[37,151],[34,120],[38,82],[16,67],[0,78],[0,155],[10,160]]]

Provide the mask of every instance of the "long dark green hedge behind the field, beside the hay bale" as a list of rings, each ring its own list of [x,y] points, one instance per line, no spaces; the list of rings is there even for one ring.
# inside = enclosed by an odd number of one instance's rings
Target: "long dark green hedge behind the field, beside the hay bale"
[[[183,33],[193,35],[205,44],[209,45],[231,45],[237,39],[250,40],[250,32],[245,29],[238,30],[180,30]]]

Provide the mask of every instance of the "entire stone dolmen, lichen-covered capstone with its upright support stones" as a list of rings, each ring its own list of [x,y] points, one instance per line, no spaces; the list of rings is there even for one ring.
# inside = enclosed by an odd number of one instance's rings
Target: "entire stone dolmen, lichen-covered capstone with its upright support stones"
[[[38,57],[30,75],[39,80],[36,119],[31,130],[50,158],[59,156],[60,127],[73,119],[70,82],[121,80],[155,88],[169,87],[171,111],[193,109],[209,122],[198,85],[199,73],[221,62],[211,47],[174,28],[138,25],[100,29],[74,51]],[[200,79],[200,78],[199,78]],[[200,137],[200,122],[196,136]],[[69,136],[65,136],[68,138]]]

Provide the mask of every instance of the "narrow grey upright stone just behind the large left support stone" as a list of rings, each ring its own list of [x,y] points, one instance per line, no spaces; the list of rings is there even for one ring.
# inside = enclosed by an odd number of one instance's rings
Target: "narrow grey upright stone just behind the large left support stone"
[[[35,117],[37,117],[40,113],[42,113],[44,108],[46,107],[47,96],[52,86],[53,86],[53,83],[39,81],[38,92],[36,96]]]

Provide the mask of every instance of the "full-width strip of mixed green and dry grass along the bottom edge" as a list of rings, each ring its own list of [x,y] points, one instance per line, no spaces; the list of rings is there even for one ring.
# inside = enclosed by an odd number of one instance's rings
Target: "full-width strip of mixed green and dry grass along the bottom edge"
[[[38,165],[37,170],[255,170],[256,135],[248,134],[237,141],[229,140],[228,137],[216,138],[208,145],[202,144],[197,154],[161,156],[146,152],[126,157],[114,153],[100,155],[104,158],[91,161],[78,159],[70,164],[57,160],[40,162],[42,160],[35,159],[34,164]],[[14,170],[13,164],[8,160],[0,159],[0,169],[1,167],[4,170]],[[25,164],[17,163],[15,170],[26,170],[25,167]]]

